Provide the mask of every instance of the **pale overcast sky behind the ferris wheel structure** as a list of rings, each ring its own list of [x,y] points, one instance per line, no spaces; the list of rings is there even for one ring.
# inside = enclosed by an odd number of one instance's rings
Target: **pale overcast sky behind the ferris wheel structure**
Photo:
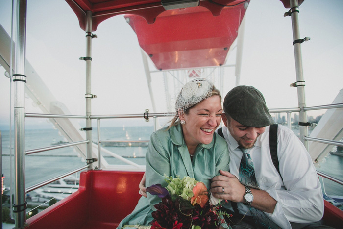
[[[10,33],[11,2],[0,0],[0,24]],[[251,0],[245,15],[241,85],[253,85],[269,108],[297,107],[291,17],[279,0]],[[343,88],[343,1],[305,0],[300,6],[300,37],[307,106],[331,103]],[[26,58],[52,94],[72,114],[85,113],[84,31],[64,0],[29,0]],[[93,114],[152,110],[137,36],[123,15],[100,23],[93,39]],[[226,64],[233,62],[230,56]],[[235,86],[225,70],[224,95]],[[157,112],[166,111],[162,77],[152,75]],[[29,80],[29,79],[28,79]],[[63,91],[61,92],[61,88]],[[163,95],[163,96],[161,96]],[[8,126],[9,79],[0,67],[0,125]],[[41,113],[25,102],[26,112]],[[313,113],[319,115],[324,111]],[[311,115],[311,113],[310,113]]]

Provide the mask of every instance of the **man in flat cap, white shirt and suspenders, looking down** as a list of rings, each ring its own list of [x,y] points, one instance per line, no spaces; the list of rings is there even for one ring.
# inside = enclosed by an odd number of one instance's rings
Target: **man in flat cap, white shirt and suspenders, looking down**
[[[223,106],[222,134],[229,149],[230,172],[220,171],[210,191],[229,201],[225,208],[233,213],[230,226],[326,228],[316,223],[324,211],[316,169],[304,145],[287,127],[279,125],[277,130],[280,174],[272,162],[269,134],[274,120],[262,93],[252,86],[237,86],[227,93]],[[246,175],[248,168],[252,170]]]

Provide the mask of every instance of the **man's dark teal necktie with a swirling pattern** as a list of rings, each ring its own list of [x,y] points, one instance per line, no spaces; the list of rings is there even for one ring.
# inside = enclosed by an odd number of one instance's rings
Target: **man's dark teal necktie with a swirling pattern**
[[[254,188],[260,189],[257,184],[256,177],[255,177],[255,169],[254,164],[252,163],[252,159],[250,154],[248,153],[247,149],[239,147],[242,151],[242,159],[240,164],[239,170],[239,180],[241,184]],[[268,216],[265,215],[263,211],[257,209],[255,207],[249,206],[251,216],[255,221],[257,228],[268,228],[268,229],[279,229],[280,227],[277,226],[273,221],[270,220]]]

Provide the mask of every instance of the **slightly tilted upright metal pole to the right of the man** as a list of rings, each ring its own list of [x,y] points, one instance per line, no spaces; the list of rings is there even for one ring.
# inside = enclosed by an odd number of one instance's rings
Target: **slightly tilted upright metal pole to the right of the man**
[[[298,1],[297,0],[290,0],[291,9],[298,9]],[[293,10],[291,14],[292,18],[292,29],[293,29],[293,40],[300,39],[300,30],[299,30],[299,20],[298,20],[298,11]],[[301,57],[301,45],[300,42],[295,43],[294,47],[294,57],[295,57],[295,72],[296,72],[296,81],[297,82],[304,82],[304,76],[302,71],[302,57]],[[305,84],[299,85],[296,87],[298,93],[298,105],[300,108],[299,112],[299,122],[307,123],[307,115],[306,111],[303,110],[306,107],[306,100],[305,100]],[[308,136],[308,128],[307,126],[300,126],[300,140],[305,145],[305,148],[308,150],[308,141],[304,139],[305,136]]]

